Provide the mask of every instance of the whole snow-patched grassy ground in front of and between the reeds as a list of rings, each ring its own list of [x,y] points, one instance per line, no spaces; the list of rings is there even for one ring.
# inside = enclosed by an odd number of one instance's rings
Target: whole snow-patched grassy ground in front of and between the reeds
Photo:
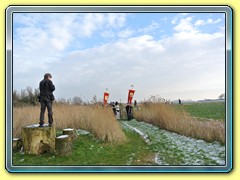
[[[127,142],[111,144],[85,130],[67,157],[13,153],[14,165],[216,165],[225,164],[225,146],[172,133],[136,120],[120,120]],[[59,131],[57,135],[61,135]]]

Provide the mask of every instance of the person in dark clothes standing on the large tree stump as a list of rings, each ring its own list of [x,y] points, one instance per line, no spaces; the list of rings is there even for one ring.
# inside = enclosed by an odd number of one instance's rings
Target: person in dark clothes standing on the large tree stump
[[[44,113],[46,108],[48,110],[49,126],[52,126],[52,123],[53,123],[52,101],[54,100],[53,91],[55,90],[55,86],[53,85],[51,79],[52,79],[52,75],[49,73],[46,73],[44,75],[44,79],[39,83],[40,103],[41,103],[39,127],[43,127]]]

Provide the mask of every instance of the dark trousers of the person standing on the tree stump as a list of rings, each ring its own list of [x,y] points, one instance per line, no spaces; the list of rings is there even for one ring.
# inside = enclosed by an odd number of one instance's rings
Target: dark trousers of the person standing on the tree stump
[[[53,111],[52,111],[52,101],[41,99],[41,112],[40,112],[40,125],[44,124],[44,113],[48,110],[48,123],[53,123]]]

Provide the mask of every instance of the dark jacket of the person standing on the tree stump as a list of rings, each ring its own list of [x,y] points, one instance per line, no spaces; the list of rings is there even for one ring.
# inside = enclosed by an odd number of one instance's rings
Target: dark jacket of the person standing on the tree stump
[[[51,99],[53,95],[53,91],[55,90],[55,86],[53,85],[52,81],[49,79],[43,79],[39,83],[40,89],[40,97],[44,99]]]

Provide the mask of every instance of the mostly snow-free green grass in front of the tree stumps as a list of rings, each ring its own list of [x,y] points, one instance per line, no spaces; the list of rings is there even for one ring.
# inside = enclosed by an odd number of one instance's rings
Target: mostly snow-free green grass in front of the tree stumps
[[[92,134],[79,135],[74,142],[70,156],[54,154],[27,155],[13,154],[14,165],[152,165],[154,154],[143,139],[135,132],[125,132],[128,142],[109,144]]]

